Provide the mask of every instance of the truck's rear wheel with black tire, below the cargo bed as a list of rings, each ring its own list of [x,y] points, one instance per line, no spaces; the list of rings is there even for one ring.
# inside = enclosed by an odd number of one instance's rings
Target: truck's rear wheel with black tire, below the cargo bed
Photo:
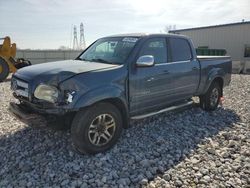
[[[217,94],[216,94],[217,93]],[[200,106],[206,111],[215,110],[222,96],[222,87],[218,82],[213,82],[205,95],[200,96]]]

